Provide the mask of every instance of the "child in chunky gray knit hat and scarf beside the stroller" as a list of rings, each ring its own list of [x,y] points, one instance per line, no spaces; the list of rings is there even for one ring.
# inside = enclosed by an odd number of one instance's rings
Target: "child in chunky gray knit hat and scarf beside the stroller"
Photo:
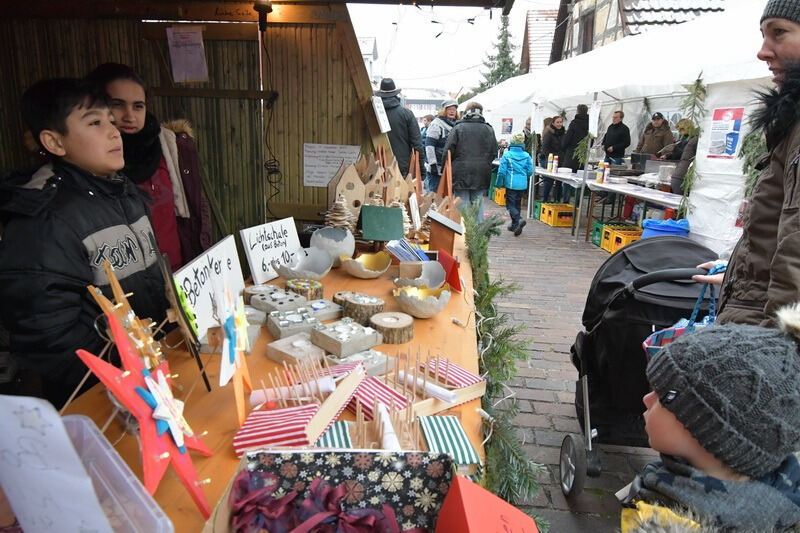
[[[800,524],[800,304],[778,321],[703,328],[649,361],[645,429],[661,460],[631,484],[623,526],[642,503],[723,530]]]

